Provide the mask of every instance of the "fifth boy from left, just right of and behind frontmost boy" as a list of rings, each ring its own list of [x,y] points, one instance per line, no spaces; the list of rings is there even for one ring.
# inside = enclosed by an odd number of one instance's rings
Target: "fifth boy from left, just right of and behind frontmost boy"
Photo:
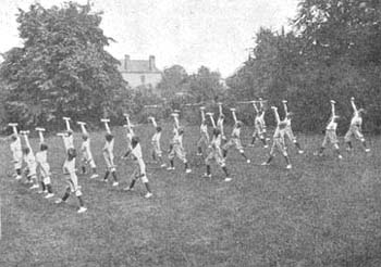
[[[86,124],[82,123],[82,122],[77,122],[77,124],[81,125],[82,140],[83,140],[83,142],[81,144],[82,174],[86,174],[86,165],[89,165],[91,170],[93,170],[93,175],[90,176],[90,179],[98,178],[97,165],[96,165],[94,157],[93,157],[93,153],[91,153],[91,149],[90,149],[90,138],[89,138],[89,135],[88,135],[86,126],[85,126]]]

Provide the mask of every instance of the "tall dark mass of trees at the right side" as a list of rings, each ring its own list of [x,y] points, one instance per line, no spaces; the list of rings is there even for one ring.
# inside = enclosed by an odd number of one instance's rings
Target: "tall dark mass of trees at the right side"
[[[381,131],[380,1],[304,0],[290,33],[261,28],[249,59],[229,78],[237,99],[287,99],[294,127],[319,132],[337,101],[340,131],[352,116],[351,97],[367,111],[364,128]]]

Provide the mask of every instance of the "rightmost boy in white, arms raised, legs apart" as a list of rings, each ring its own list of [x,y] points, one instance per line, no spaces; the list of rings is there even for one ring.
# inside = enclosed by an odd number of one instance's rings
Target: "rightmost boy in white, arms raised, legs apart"
[[[369,152],[370,149],[367,148],[367,143],[366,143],[364,135],[361,132],[362,113],[365,111],[364,111],[364,109],[357,110],[357,106],[355,104],[355,98],[351,98],[351,104],[352,104],[354,113],[353,113],[353,117],[351,120],[349,129],[344,137],[344,140],[347,144],[347,150],[352,151],[353,147],[352,147],[351,139],[352,139],[352,136],[355,136],[355,138],[357,140],[360,140],[360,142],[362,143],[365,152]]]

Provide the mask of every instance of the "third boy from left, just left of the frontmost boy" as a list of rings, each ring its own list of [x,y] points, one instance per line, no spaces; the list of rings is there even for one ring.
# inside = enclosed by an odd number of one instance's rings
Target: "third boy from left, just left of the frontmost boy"
[[[37,166],[39,167],[39,173],[40,173],[40,183],[41,183],[41,190],[39,193],[48,193],[45,198],[50,199],[52,198],[53,190],[51,187],[51,180],[50,180],[50,165],[48,163],[48,145],[44,141],[44,134],[42,131],[45,129],[42,128],[36,128],[39,135],[39,148],[40,151],[36,153],[36,162]]]

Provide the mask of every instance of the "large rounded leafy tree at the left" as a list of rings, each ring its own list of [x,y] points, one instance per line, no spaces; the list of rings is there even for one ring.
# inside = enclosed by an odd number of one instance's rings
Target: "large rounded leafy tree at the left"
[[[62,115],[96,122],[112,113],[114,93],[125,85],[105,50],[112,39],[100,28],[101,13],[75,2],[36,3],[19,10],[17,23],[23,47],[8,51],[0,67],[9,120],[53,126]]]

